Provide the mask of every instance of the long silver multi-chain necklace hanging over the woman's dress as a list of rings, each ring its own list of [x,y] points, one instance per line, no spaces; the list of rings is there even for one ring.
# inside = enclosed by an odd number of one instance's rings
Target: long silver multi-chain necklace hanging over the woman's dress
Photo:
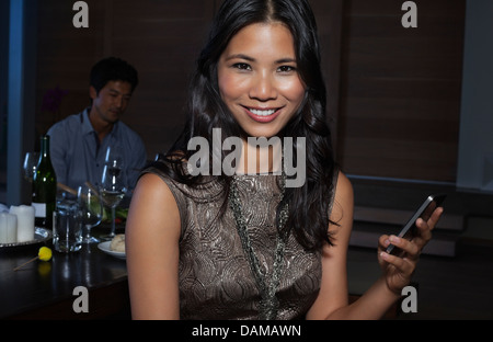
[[[280,176],[280,202],[284,197],[286,175],[284,172]],[[279,203],[280,203],[279,202]],[[262,297],[259,304],[259,317],[260,319],[271,320],[276,319],[277,310],[279,308],[279,301],[276,297],[277,286],[279,285],[280,272],[283,269],[284,250],[287,241],[287,235],[282,236],[284,232],[284,226],[288,218],[288,203],[285,203],[279,212],[279,226],[277,227],[277,246],[274,255],[274,266],[271,276],[271,282],[267,284],[266,274],[262,273],[259,259],[253,250],[249,232],[246,230],[246,220],[242,213],[241,201],[238,191],[237,179],[233,176],[231,180],[231,186],[229,192],[229,205],[234,216],[237,224],[238,235],[240,236],[241,244],[248,256],[250,269],[255,277],[256,287],[259,288]]]

